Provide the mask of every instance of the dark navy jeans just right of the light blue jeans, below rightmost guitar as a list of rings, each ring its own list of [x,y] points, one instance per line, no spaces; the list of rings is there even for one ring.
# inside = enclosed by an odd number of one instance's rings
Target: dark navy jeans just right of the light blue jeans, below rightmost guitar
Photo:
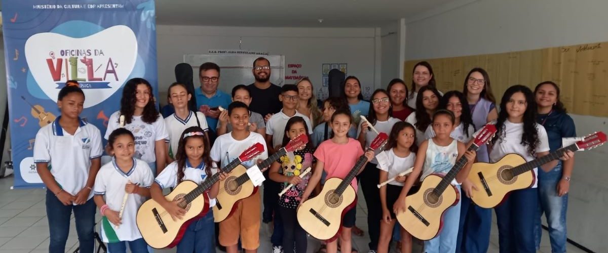
[[[488,252],[492,209],[477,206],[466,197],[460,196],[460,229],[458,229],[457,252]]]

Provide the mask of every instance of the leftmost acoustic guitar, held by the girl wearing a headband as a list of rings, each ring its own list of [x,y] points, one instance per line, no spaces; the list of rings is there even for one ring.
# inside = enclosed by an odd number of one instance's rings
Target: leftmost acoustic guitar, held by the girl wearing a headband
[[[241,155],[232,160],[222,172],[230,172],[243,161],[264,152],[264,145],[256,143],[243,151]],[[184,180],[176,186],[170,194],[165,195],[167,201],[181,200],[179,206],[186,213],[181,220],[174,221],[171,215],[156,201],[150,199],[145,201],[137,211],[137,228],[141,232],[143,240],[152,248],[173,248],[178,245],[188,225],[197,218],[204,217],[209,211],[209,195],[207,191],[219,180],[219,173],[207,178],[200,185],[190,180]]]

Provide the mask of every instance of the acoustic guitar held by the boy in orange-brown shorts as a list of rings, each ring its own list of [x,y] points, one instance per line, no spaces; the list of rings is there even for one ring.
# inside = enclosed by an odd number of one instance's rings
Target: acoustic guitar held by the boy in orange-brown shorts
[[[249,167],[249,169],[263,169],[270,166],[278,158],[285,155],[287,152],[292,152],[308,143],[307,135],[300,135],[294,140],[279,149],[260,164]],[[247,198],[257,191],[258,187],[251,182],[247,170],[243,165],[235,167],[230,172],[230,175],[223,181],[219,181],[219,193],[216,197],[216,204],[213,206],[213,218],[215,222],[226,220],[237,209],[237,203],[244,198]]]

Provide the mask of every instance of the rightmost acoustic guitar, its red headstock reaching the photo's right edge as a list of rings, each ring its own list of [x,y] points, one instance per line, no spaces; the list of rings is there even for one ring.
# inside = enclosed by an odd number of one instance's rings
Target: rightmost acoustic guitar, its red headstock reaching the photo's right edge
[[[578,151],[592,149],[606,143],[606,134],[596,132],[584,137],[581,141],[555,150],[544,157],[526,163],[526,160],[510,153],[496,163],[475,163],[471,168],[469,180],[477,186],[471,200],[478,206],[492,208],[498,206],[507,194],[517,189],[524,189],[534,184],[534,168],[559,159],[567,150]]]

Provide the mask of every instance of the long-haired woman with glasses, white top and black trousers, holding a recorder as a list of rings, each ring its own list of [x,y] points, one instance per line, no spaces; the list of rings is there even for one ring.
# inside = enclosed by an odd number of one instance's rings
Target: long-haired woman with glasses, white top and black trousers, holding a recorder
[[[398,123],[398,118],[393,118],[392,106],[390,104],[390,95],[384,89],[375,90],[371,94],[371,103],[367,121],[359,123],[359,142],[365,149],[371,144],[378,133],[371,130],[371,124],[379,132],[389,134],[393,125]],[[376,150],[376,154],[381,150]],[[378,170],[378,160],[374,158],[365,166],[361,174],[357,176],[361,182],[361,190],[367,204],[367,228],[370,235],[370,252],[376,252],[378,249],[378,238],[380,237],[380,220],[382,220],[382,205],[380,202],[380,191],[378,183],[380,181],[380,171]]]

